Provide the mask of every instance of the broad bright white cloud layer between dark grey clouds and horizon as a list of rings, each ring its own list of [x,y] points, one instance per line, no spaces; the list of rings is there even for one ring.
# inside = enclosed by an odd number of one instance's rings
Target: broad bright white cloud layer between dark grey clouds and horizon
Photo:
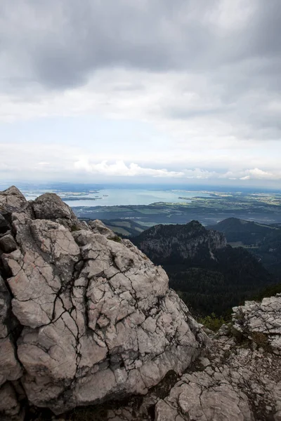
[[[81,173],[82,168],[73,167],[73,162],[86,155],[89,163],[84,163],[84,170],[90,167],[85,175],[94,170],[96,175],[108,177],[122,173],[130,178],[231,180],[249,175],[251,180],[279,180],[279,132],[274,124],[259,130],[254,127],[261,121],[260,115],[268,118],[270,112],[281,113],[276,107],[268,109],[268,100],[274,102],[274,95],[245,91],[232,102],[226,102],[224,95],[222,86],[207,74],[151,74],[117,68],[99,70],[85,86],[63,93],[34,88],[31,96],[20,92],[4,95],[0,101],[1,138],[5,140],[10,127],[20,127],[9,139],[13,150],[5,162],[12,166],[20,161],[24,166],[23,154],[29,176],[32,168],[42,167],[42,177],[43,171],[46,177],[53,177],[55,168],[60,179],[69,177],[71,168]],[[84,126],[84,116],[94,120],[92,126]],[[64,121],[70,121],[75,130],[71,132]],[[98,132],[99,121],[100,126],[106,122],[111,128],[107,138]],[[61,133],[56,132],[57,122],[65,125]],[[40,129],[47,124],[48,133]],[[32,146],[25,125],[36,127]],[[75,148],[63,145],[67,138],[68,145]],[[19,140],[22,148],[17,145]],[[100,164],[103,161],[107,161],[105,166]],[[124,161],[127,168],[116,163],[112,166],[115,161]],[[200,170],[196,172],[196,168]],[[273,175],[247,173],[247,168]]]

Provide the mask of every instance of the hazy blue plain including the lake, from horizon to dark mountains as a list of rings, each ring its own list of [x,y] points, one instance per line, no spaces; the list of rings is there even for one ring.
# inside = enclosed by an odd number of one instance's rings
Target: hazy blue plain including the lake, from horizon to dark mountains
[[[1,183],[0,188],[9,185]],[[281,190],[62,182],[17,185],[27,199],[54,192],[79,218],[103,220],[124,236],[137,235],[156,224],[185,224],[190,220],[199,220],[203,225],[214,225],[226,218],[281,223]]]

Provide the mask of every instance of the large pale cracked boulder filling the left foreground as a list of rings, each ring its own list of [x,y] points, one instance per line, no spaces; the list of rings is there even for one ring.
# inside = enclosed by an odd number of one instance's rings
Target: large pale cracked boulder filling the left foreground
[[[55,194],[0,192],[0,416],[145,394],[208,344],[168,278]]]

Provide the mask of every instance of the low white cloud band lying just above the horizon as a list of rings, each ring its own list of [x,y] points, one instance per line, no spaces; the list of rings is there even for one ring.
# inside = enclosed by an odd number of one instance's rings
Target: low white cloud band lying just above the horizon
[[[113,147],[113,146],[112,146]],[[117,144],[119,147],[119,144]],[[116,159],[115,151],[108,150],[106,154],[98,151],[93,145],[91,151],[85,154],[85,147],[72,147],[70,145],[41,144],[37,147],[32,143],[0,143],[0,178],[14,180],[40,179],[40,180],[106,180],[114,178],[130,178],[131,180],[213,180],[213,182],[226,182],[227,180],[256,180],[268,183],[281,180],[279,163],[274,165],[266,154],[264,159],[248,158],[247,154],[240,156],[240,161],[233,159],[233,155],[226,156],[214,152],[209,156],[198,152],[188,154],[166,151],[159,147],[150,147],[136,154],[127,150],[126,154],[120,151]],[[111,149],[111,148],[110,148]],[[127,148],[128,149],[128,148]],[[176,150],[176,149],[175,149]],[[146,151],[146,152],[145,152]],[[107,155],[108,159],[104,159]],[[249,168],[249,161],[256,166]],[[226,170],[226,168],[230,168]],[[270,168],[270,169],[269,169]]]

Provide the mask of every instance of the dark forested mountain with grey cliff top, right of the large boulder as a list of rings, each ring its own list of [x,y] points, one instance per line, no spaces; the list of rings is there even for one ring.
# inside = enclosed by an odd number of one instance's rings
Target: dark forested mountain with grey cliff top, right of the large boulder
[[[217,315],[275,282],[251,253],[200,222],[157,225],[133,238],[155,264],[163,265],[171,288],[195,314]]]

